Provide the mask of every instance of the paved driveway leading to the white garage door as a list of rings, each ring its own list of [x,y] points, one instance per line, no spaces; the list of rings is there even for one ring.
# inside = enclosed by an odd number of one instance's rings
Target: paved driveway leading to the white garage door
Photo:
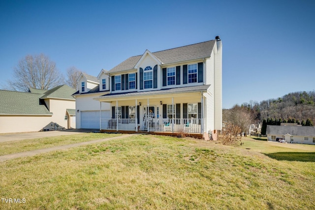
[[[52,136],[64,136],[73,135],[79,133],[88,133],[95,130],[90,129],[71,129],[71,130],[54,130],[54,131],[42,131],[42,132],[30,132],[30,133],[7,133],[0,134],[0,142],[18,141],[24,139],[37,139]]]

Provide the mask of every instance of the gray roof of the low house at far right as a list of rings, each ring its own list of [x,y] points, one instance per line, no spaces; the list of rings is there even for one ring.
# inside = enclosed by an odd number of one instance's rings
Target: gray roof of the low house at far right
[[[315,136],[314,126],[281,126],[281,125],[267,125],[266,134],[270,135],[285,135],[291,136]]]

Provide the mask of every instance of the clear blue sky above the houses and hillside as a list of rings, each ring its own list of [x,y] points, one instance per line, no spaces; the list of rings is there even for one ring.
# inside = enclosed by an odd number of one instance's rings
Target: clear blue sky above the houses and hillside
[[[97,76],[221,36],[223,108],[315,90],[314,0],[0,0],[0,87],[26,55]]]

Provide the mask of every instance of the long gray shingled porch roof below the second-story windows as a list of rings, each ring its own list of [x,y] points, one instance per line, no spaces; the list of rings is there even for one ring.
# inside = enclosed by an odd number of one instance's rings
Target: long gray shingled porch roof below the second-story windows
[[[162,90],[151,90],[143,92],[121,92],[121,93],[110,93],[106,95],[99,96],[98,98],[112,98],[112,97],[128,97],[128,96],[142,96],[142,95],[151,95],[151,94],[169,94],[169,93],[181,93],[181,92],[196,92],[201,90],[207,90],[210,85],[202,86],[191,86],[184,88],[171,88],[171,89],[162,89]]]

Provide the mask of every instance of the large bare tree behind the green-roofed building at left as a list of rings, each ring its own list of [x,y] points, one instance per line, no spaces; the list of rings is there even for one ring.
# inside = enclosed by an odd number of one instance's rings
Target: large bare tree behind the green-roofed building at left
[[[63,84],[63,77],[56,63],[44,54],[27,55],[14,67],[13,79],[7,81],[5,89],[28,91],[29,88],[48,90]]]

